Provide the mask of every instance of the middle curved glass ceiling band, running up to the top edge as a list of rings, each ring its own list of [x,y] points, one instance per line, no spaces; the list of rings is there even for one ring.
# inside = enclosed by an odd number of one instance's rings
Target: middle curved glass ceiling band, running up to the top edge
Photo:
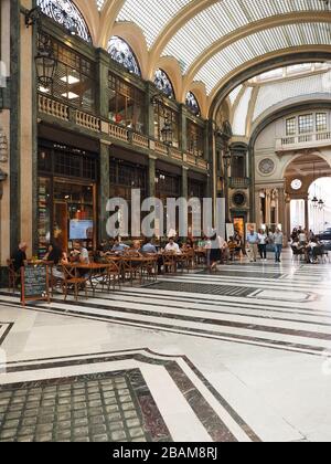
[[[205,49],[239,28],[274,15],[323,11],[324,8],[320,0],[223,0],[203,10],[181,28],[163,55],[177,57],[183,72],[186,72]]]

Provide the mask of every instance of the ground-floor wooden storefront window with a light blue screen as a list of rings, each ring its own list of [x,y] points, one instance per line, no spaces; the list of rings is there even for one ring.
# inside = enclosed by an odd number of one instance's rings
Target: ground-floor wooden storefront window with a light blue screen
[[[39,149],[39,254],[55,240],[63,251],[82,240],[96,246],[97,158],[60,144]]]

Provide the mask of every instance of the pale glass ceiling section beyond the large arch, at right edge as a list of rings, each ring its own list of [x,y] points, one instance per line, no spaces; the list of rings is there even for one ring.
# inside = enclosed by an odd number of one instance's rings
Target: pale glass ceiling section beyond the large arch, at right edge
[[[331,71],[261,85],[258,91],[253,119],[255,120],[268,108],[286,99],[314,94],[327,94],[331,98]]]

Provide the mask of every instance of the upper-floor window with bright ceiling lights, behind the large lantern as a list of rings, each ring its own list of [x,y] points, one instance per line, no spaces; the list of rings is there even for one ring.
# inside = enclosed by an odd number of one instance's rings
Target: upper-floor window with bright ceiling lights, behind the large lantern
[[[39,87],[41,93],[65,101],[86,112],[95,112],[96,68],[95,64],[72,49],[53,40],[57,60],[54,83],[51,88]]]

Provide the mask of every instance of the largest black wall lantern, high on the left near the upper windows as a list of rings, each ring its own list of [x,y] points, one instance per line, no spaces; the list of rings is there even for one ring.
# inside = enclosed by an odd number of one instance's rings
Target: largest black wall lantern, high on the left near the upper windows
[[[57,65],[50,36],[45,34],[39,35],[39,46],[34,62],[40,86],[49,89],[53,85]]]

